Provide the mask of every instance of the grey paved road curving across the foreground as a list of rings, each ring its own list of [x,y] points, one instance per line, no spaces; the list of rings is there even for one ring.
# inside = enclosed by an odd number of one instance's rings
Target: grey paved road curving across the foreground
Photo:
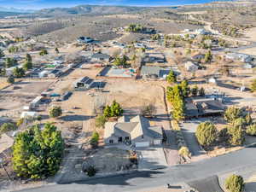
[[[182,166],[137,172],[119,177],[106,177],[87,182],[46,185],[37,189],[26,189],[27,192],[97,192],[97,191],[132,191],[163,186],[166,183],[188,182],[214,174],[228,172],[256,172],[256,148],[245,148],[223,156],[202,160]]]

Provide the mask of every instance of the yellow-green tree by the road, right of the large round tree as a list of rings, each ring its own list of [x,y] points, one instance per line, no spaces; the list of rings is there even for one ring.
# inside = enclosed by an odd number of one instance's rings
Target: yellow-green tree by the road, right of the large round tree
[[[231,145],[241,145],[245,140],[241,126],[230,126],[228,133],[230,135],[229,143]]]

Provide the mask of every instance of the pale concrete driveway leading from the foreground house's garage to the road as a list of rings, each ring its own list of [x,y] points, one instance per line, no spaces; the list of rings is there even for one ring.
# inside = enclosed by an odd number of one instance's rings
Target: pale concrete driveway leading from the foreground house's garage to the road
[[[166,155],[162,147],[136,148],[139,170],[154,170],[167,167]]]

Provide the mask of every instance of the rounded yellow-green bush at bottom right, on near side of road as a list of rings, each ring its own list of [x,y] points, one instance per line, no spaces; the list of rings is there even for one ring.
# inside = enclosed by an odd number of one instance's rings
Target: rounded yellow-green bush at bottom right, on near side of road
[[[225,180],[225,188],[230,192],[243,192],[243,178],[239,175],[231,175]]]

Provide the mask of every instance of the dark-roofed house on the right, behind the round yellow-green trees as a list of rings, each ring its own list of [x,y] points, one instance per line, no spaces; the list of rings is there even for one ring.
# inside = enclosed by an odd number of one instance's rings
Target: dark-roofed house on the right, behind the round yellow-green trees
[[[224,104],[212,98],[186,99],[186,118],[219,115],[224,113]]]

